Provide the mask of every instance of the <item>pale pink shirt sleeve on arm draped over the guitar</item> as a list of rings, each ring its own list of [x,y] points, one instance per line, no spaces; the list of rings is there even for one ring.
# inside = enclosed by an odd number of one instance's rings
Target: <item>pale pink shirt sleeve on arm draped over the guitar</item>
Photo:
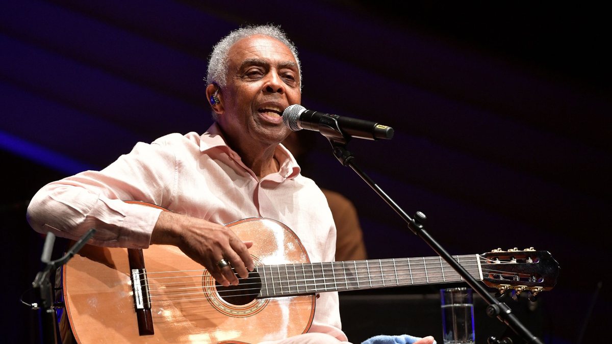
[[[146,248],[162,205],[172,196],[176,159],[163,141],[138,143],[102,171],[84,171],[45,185],[28,206],[28,222],[40,233],[78,239],[89,228],[92,244]]]

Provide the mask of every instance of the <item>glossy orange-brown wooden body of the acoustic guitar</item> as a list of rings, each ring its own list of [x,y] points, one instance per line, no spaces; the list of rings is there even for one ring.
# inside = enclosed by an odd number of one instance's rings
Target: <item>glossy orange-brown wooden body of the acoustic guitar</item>
[[[282,223],[245,219],[228,225],[256,265],[309,263],[299,239]],[[143,250],[154,334],[139,335],[127,249],[86,245],[64,267],[64,299],[80,343],[258,343],[304,333],[315,296],[224,301],[203,267],[170,245]],[[164,272],[164,273],[160,273]],[[258,293],[258,291],[255,291]]]

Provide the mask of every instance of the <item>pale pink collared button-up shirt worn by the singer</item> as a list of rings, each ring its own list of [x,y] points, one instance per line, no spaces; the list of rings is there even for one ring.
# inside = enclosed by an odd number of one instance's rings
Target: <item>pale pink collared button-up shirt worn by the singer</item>
[[[122,201],[140,200],[215,223],[275,219],[297,234],[312,262],[333,261],[336,230],[325,196],[300,174],[282,145],[274,156],[280,170],[258,180],[216,124],[203,135],[173,133],[136,144],[102,171],[45,185],[32,198],[28,221],[40,233],[77,239],[94,227],[95,245],[146,248],[161,211]],[[346,340],[337,293],[322,293],[316,300],[309,332]]]

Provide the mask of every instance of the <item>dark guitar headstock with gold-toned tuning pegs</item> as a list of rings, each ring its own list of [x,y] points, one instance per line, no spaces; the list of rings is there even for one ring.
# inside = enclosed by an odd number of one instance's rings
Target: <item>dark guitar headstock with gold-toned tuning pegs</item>
[[[533,247],[504,251],[496,249],[480,255],[483,282],[498,288],[503,294],[515,290],[517,294],[530,291],[532,296],[551,290],[557,283],[559,263],[547,251]]]

